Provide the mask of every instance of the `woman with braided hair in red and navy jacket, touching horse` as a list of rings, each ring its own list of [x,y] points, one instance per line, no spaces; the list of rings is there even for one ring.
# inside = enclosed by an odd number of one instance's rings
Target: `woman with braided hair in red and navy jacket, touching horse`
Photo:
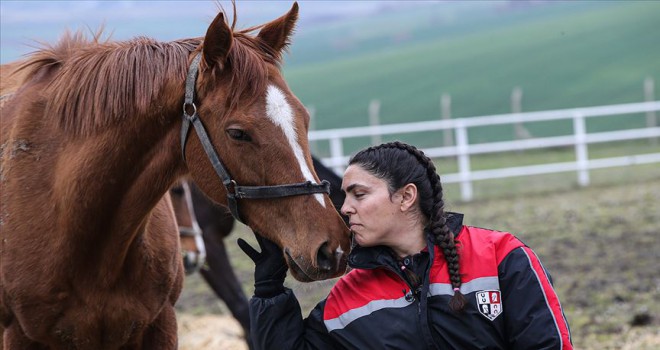
[[[257,349],[572,349],[550,276],[507,232],[446,213],[435,166],[392,142],[357,153],[342,213],[352,270],[303,320],[281,249],[257,235],[250,300]]]

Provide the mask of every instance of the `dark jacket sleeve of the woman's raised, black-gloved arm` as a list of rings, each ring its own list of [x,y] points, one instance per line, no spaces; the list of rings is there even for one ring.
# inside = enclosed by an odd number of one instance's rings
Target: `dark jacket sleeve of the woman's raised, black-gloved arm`
[[[340,349],[323,323],[325,300],[302,318],[291,289],[272,298],[250,299],[250,335],[254,349]]]

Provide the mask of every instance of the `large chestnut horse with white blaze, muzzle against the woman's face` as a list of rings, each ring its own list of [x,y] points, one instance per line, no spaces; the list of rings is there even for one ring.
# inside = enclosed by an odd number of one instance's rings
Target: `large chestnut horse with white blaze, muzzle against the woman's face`
[[[166,193],[183,176],[282,247],[294,278],[344,273],[349,230],[280,70],[297,18],[294,3],[237,31],[234,7],[198,38],[78,32],[25,59],[1,110],[5,349],[175,349],[183,268]]]

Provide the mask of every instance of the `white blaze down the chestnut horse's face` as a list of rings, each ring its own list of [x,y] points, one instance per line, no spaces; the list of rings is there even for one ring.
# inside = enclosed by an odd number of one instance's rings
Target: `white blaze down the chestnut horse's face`
[[[273,123],[275,123],[275,125],[279,126],[282,131],[284,131],[284,135],[289,141],[289,145],[291,146],[291,150],[293,150],[293,154],[296,156],[296,160],[298,160],[300,171],[302,171],[305,180],[315,183],[316,180],[314,180],[312,171],[309,169],[309,166],[307,166],[307,162],[305,162],[302,147],[300,147],[297,140],[296,125],[293,122],[293,109],[291,109],[291,105],[287,102],[284,93],[273,85],[269,85],[268,91],[266,92],[266,115],[273,121]],[[316,197],[316,200],[325,208],[323,195],[316,193],[314,194],[314,197]]]

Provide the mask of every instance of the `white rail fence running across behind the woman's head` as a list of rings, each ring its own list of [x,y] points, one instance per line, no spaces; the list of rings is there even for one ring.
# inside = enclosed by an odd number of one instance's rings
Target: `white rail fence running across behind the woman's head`
[[[589,159],[589,153],[587,150],[587,146],[592,143],[634,139],[652,139],[660,137],[660,127],[658,127],[655,123],[654,113],[656,111],[660,111],[660,101],[530,113],[490,115],[482,117],[414,123],[365,126],[345,129],[313,130],[309,132],[309,140],[310,142],[328,140],[330,143],[330,157],[322,158],[321,161],[326,166],[333,168],[337,173],[341,174],[343,173],[349,159],[349,156],[344,155],[344,139],[376,135],[407,134],[415,132],[442,132],[442,130],[447,129],[454,130],[456,140],[456,144],[454,146],[424,148],[423,151],[431,158],[452,156],[457,157],[458,173],[442,174],[442,181],[444,183],[460,183],[461,198],[464,201],[469,201],[473,197],[473,181],[575,171],[578,175],[578,183],[581,186],[587,186],[589,184],[589,170],[591,169],[628,166],[634,164],[658,163],[660,162],[660,153],[657,152],[633,154],[622,157]],[[626,116],[634,113],[647,113],[652,115],[653,121],[650,122],[645,128],[587,133],[586,118],[597,118],[612,115],[621,115],[622,118],[625,118]],[[476,144],[471,144],[468,140],[468,129],[472,127],[502,124],[513,125],[523,122],[529,123],[561,119],[573,120],[572,135]],[[648,119],[648,116],[647,120],[650,120]],[[573,146],[575,148],[575,161],[479,171],[473,171],[470,169],[470,156],[473,154],[539,149],[557,146]]]

